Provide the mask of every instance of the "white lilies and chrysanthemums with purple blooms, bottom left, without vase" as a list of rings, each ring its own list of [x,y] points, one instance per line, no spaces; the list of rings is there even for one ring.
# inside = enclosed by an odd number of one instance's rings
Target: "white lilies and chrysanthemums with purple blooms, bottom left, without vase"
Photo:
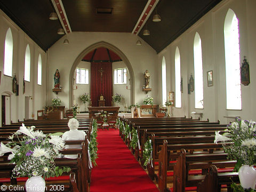
[[[22,124],[20,129],[9,137],[11,141],[6,145],[1,142],[0,156],[11,152],[8,159],[16,164],[12,177],[30,178],[42,175],[49,178],[69,172],[69,167],[55,167],[54,163],[54,159],[61,155],[59,150],[65,148],[65,142],[57,135],[46,135],[42,131],[34,131],[34,128],[35,126],[26,127]],[[18,137],[18,141],[13,141],[14,136]]]

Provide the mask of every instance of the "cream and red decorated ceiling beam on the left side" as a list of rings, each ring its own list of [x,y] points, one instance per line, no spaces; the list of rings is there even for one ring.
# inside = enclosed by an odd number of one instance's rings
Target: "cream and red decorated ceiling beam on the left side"
[[[68,17],[67,17],[66,11],[64,9],[64,6],[62,4],[62,1],[61,0],[52,0],[52,4],[54,6],[56,13],[58,14],[58,17],[60,19],[63,29],[65,30],[65,33],[66,34],[71,33],[72,32],[71,27],[69,25]]]

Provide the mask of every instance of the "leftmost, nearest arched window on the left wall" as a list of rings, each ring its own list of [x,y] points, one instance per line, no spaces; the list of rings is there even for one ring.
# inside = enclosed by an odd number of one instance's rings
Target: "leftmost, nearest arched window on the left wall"
[[[12,55],[13,55],[13,40],[12,31],[9,28],[5,36],[4,44],[4,75],[12,76]]]

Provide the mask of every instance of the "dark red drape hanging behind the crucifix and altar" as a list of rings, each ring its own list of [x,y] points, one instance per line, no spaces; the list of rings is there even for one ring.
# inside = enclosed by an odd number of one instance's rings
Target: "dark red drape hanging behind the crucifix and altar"
[[[102,81],[101,73],[102,72]],[[112,63],[93,63],[91,62],[91,101],[92,107],[99,106],[98,100],[100,95],[103,95],[105,101],[105,106],[111,106],[112,101]]]

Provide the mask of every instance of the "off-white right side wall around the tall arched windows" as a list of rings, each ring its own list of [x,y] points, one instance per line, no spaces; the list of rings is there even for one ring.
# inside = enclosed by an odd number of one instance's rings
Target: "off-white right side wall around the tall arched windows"
[[[221,120],[221,123],[228,123],[230,119],[224,116],[241,116],[244,119],[256,119],[254,108],[256,77],[253,75],[256,65],[255,61],[255,13],[256,1],[227,0],[215,6],[195,25],[180,35],[173,43],[167,46],[158,54],[158,68],[161,69],[163,56],[166,59],[167,71],[167,92],[175,90],[174,60],[176,46],[180,50],[181,76],[183,77],[183,93],[181,93],[181,108],[174,108],[174,116],[191,116],[192,111],[202,112],[203,119],[210,121]],[[224,21],[228,9],[232,9],[239,21],[239,44],[240,63],[244,55],[250,65],[249,86],[242,87],[242,110],[226,109],[226,68],[225,68],[225,46],[223,37]],[[195,92],[188,94],[188,81],[190,74],[194,76],[194,37],[195,33],[201,37],[203,57],[203,81],[204,81],[204,109],[195,109]],[[213,70],[213,86],[207,86],[206,72]],[[159,93],[162,92],[162,77],[159,71]],[[168,90],[169,89],[169,90]],[[161,99],[159,97],[158,99]],[[194,116],[193,116],[194,117]],[[195,116],[196,118],[198,116]]]

